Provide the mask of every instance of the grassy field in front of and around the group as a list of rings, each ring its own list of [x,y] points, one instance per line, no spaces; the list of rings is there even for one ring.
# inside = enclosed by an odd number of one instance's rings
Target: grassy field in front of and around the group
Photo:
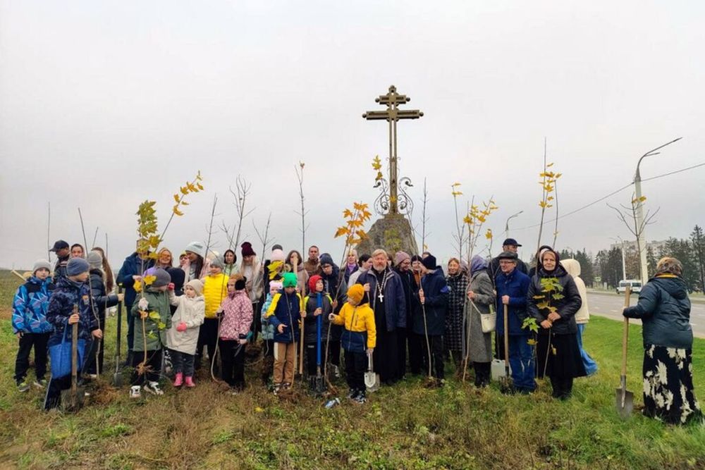
[[[12,378],[16,339],[9,319],[19,282],[0,273],[3,469],[705,468],[705,426],[666,426],[640,414],[618,418],[621,323],[599,317],[584,342],[600,370],[578,379],[567,402],[551,399],[543,382],[534,395],[505,396],[494,385],[478,391],[451,379],[429,390],[422,378],[407,378],[362,406],[343,400],[325,409],[306,395],[279,400],[254,371],[235,397],[204,379],[193,390],[166,385],[163,397],[130,400],[126,386],[108,385],[108,370],[78,414],[47,414],[39,410],[42,393],[20,395]],[[115,319],[106,329],[109,369]],[[640,328],[631,333],[627,388],[641,404]],[[705,400],[705,340],[696,340],[693,358],[695,390]]]

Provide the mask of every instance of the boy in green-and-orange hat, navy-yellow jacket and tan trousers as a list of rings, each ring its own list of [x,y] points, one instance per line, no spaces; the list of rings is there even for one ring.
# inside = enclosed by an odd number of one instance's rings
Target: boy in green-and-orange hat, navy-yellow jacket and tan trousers
[[[266,319],[274,326],[274,393],[289,388],[294,380],[296,342],[299,338],[299,319],[303,310],[301,296],[296,292],[294,273],[284,273],[283,292],[274,295]]]

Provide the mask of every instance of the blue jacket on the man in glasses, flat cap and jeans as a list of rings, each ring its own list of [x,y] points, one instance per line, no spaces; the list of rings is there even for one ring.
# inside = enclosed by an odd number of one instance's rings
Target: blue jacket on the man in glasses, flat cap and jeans
[[[504,304],[502,296],[509,296],[508,321],[509,335],[528,335],[529,330],[522,330],[524,319],[529,316],[527,312],[527,292],[531,279],[525,273],[514,269],[506,275],[502,271],[497,273],[494,285],[497,290],[497,326],[498,335],[504,334]]]

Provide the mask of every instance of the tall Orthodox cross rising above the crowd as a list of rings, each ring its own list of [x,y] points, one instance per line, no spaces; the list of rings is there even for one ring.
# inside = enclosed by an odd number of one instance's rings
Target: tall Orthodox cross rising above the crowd
[[[374,101],[386,105],[387,109],[367,111],[362,117],[367,120],[386,119],[389,123],[389,214],[398,214],[396,123],[400,119],[418,119],[424,116],[424,113],[418,109],[398,109],[398,105],[408,103],[411,98],[398,94],[394,85],[389,87],[387,94],[375,98]]]

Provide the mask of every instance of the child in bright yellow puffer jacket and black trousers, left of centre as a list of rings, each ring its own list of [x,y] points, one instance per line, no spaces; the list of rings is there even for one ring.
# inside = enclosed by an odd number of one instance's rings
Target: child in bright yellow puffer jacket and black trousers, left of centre
[[[203,298],[205,300],[205,318],[198,331],[196,345],[195,369],[200,369],[203,347],[208,349],[211,361],[216,353],[218,343],[218,311],[223,299],[228,297],[228,276],[223,273],[223,260],[216,258],[211,261],[209,275],[203,278]],[[217,374],[217,372],[216,372]]]

